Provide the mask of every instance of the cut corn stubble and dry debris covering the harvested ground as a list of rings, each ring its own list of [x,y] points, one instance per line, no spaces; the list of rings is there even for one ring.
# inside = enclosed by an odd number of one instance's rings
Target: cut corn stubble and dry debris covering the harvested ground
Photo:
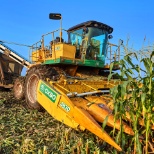
[[[107,154],[109,149],[88,131],[75,131],[45,111],[27,109],[11,91],[0,91],[0,113],[0,154]]]

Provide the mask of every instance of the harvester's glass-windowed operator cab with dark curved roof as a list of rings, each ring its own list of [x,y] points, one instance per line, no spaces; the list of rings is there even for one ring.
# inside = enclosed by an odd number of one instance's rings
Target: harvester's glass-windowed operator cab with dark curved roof
[[[68,29],[68,42],[76,45],[76,58],[105,62],[107,42],[113,29],[105,24],[88,21]]]

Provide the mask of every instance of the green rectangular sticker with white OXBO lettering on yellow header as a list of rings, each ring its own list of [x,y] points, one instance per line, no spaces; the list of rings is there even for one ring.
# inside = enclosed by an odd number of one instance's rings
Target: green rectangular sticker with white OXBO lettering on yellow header
[[[45,96],[47,96],[53,103],[55,103],[57,94],[52,91],[48,86],[46,86],[43,82],[40,84],[39,89]]]

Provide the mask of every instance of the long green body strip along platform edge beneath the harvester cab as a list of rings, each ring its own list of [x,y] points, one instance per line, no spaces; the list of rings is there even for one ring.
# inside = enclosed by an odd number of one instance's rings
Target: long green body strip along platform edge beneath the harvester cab
[[[99,67],[99,68],[104,67],[103,61],[88,60],[88,59],[85,59],[83,61],[80,59],[67,59],[63,57],[57,58],[57,59],[46,60],[43,64],[71,64],[71,65],[90,66],[90,67]]]

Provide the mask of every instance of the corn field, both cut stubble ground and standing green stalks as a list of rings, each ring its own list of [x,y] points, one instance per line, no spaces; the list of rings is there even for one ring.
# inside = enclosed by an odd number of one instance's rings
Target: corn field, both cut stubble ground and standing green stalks
[[[132,56],[140,65],[132,61]],[[122,84],[110,90],[114,100],[113,114],[121,121],[120,131],[103,128],[122,147],[121,154],[154,153],[154,52],[138,58],[128,53],[120,62],[118,76]],[[117,64],[117,63],[116,63]],[[141,67],[144,66],[144,67]],[[144,76],[142,75],[144,74]],[[16,101],[12,91],[0,91],[0,154],[116,154],[113,147],[92,133],[75,131],[46,111],[27,109]],[[122,121],[129,124],[134,136],[123,132]]]

